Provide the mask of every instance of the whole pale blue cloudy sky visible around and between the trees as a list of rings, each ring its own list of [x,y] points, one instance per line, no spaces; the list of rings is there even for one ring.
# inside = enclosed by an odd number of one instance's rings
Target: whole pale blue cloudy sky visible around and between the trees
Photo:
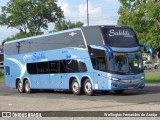
[[[9,0],[0,0],[1,6],[6,6]],[[87,0],[57,0],[58,6],[64,11],[66,20],[71,22],[81,21],[87,25]],[[118,20],[118,0],[88,0],[89,5],[89,25],[116,25]],[[50,23],[45,34],[54,29],[54,24]],[[7,38],[18,33],[19,30],[0,26],[0,44]]]

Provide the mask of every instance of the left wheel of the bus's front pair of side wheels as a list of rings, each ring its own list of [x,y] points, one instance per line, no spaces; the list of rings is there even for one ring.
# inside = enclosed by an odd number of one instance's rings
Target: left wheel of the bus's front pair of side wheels
[[[81,94],[81,88],[80,88],[80,86],[79,86],[79,84],[78,84],[77,79],[74,79],[74,80],[72,81],[72,93],[73,93],[74,95],[80,95],[80,94]]]

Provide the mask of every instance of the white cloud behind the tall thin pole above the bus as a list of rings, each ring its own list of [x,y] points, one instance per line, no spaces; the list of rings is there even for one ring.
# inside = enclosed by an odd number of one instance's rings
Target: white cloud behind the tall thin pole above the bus
[[[71,6],[65,0],[59,3],[66,20],[71,22],[81,21],[84,25],[87,25],[87,4],[79,4],[77,10],[72,10]],[[93,3],[88,3],[89,9],[89,23],[90,25],[115,25],[117,23],[117,18],[112,16],[107,16],[103,14],[102,7],[96,6]]]

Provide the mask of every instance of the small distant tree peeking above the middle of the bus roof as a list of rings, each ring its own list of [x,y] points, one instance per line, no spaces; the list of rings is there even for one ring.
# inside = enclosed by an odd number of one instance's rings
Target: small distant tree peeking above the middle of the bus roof
[[[55,24],[55,27],[54,27],[53,31],[67,30],[67,29],[82,27],[82,26],[83,26],[82,22],[71,23],[70,21],[64,21],[63,20],[63,21],[57,22]]]

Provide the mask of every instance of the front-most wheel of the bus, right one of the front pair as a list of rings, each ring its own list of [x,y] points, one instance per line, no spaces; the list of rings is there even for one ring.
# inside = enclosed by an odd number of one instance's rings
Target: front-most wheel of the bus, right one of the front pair
[[[84,82],[84,93],[88,96],[94,95],[92,84],[89,79],[86,79]]]

